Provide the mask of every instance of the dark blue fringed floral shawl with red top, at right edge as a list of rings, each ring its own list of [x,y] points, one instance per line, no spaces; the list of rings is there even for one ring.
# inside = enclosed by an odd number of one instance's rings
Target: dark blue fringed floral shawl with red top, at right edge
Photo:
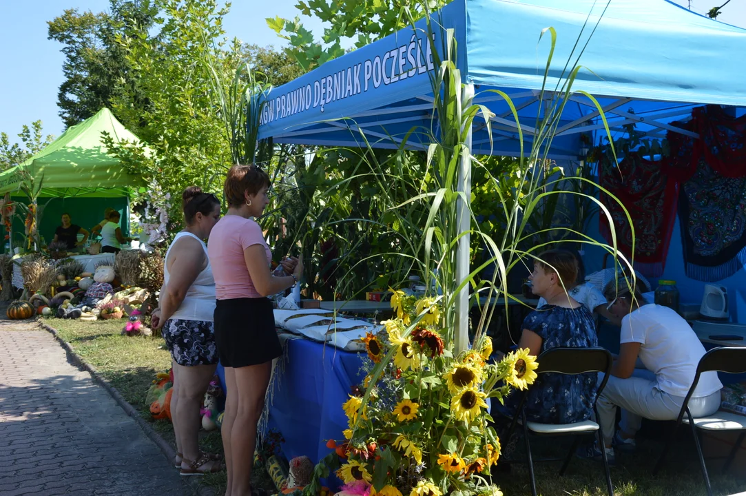
[[[680,184],[686,275],[712,282],[746,264],[746,118],[698,107],[688,123],[700,139],[668,133],[669,172]]]

